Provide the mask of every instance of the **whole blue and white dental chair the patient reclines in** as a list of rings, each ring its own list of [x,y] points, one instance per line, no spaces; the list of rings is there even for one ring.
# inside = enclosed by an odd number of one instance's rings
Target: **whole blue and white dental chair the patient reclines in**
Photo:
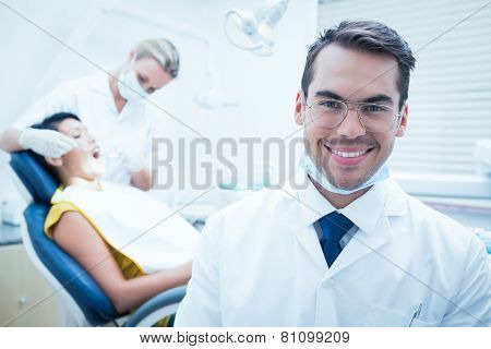
[[[22,183],[20,189],[24,196],[28,193],[32,201],[24,210],[24,246],[59,298],[64,325],[101,326],[112,322],[119,326],[119,322],[123,322],[124,326],[143,327],[176,313],[185,294],[185,286],[155,296],[131,315],[118,314],[91,275],[44,232],[50,198],[57,188],[55,180],[28,152],[12,153],[10,165]]]

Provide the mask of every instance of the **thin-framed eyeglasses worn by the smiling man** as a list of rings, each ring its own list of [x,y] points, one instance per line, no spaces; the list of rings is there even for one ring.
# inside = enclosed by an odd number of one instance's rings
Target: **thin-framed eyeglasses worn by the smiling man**
[[[372,103],[349,103],[358,106],[349,108],[348,103],[336,99],[316,100],[306,106],[310,110],[312,122],[321,128],[333,129],[342,124],[348,115],[348,110],[357,110],[358,119],[364,130],[369,132],[386,132],[394,127],[402,113],[394,113],[394,108]]]

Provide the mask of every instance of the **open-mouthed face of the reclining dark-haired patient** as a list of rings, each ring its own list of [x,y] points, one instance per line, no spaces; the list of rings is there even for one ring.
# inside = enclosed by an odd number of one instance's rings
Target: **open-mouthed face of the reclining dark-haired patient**
[[[58,131],[76,141],[79,147],[61,157],[63,171],[70,177],[85,180],[97,179],[104,171],[99,160],[99,146],[84,124],[75,119],[65,119]]]

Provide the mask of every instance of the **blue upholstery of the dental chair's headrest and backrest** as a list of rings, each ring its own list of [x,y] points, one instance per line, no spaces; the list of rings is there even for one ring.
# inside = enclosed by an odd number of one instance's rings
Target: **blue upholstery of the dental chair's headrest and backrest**
[[[56,181],[28,152],[12,153],[10,165],[33,196],[24,217],[39,260],[74,299],[89,324],[98,326],[121,316],[91,275],[44,233]]]

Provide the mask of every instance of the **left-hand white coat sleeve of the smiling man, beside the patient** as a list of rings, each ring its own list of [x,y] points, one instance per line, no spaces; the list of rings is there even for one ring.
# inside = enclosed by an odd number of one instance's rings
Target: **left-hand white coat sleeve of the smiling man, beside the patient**
[[[187,294],[176,315],[176,327],[223,326],[219,291],[219,225],[208,218],[200,236]]]

